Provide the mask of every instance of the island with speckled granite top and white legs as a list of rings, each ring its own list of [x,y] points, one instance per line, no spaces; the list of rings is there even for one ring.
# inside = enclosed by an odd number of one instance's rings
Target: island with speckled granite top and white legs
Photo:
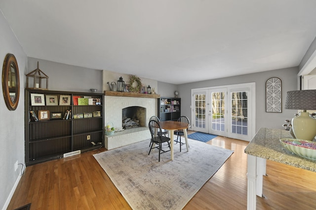
[[[292,136],[288,130],[260,128],[244,150],[247,154],[247,210],[256,209],[256,195],[262,197],[266,160],[316,172],[316,160],[286,150],[279,142],[282,138]]]

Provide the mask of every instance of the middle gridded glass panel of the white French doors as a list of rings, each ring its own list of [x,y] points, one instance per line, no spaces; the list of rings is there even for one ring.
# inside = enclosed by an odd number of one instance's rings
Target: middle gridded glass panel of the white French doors
[[[212,130],[225,130],[225,92],[212,92]]]

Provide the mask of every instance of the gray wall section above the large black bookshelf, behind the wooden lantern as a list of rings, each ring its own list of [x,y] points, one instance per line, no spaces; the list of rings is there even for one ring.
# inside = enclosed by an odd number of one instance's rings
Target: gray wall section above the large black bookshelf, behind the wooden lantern
[[[48,90],[89,92],[90,89],[102,91],[102,70],[89,69],[48,60],[28,58],[28,72],[37,68],[48,78]],[[33,87],[33,86],[32,86]]]

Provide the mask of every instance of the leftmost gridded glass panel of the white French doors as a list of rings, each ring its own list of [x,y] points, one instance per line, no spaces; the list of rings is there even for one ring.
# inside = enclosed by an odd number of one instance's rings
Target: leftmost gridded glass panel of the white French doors
[[[205,128],[205,94],[195,95],[196,127]]]

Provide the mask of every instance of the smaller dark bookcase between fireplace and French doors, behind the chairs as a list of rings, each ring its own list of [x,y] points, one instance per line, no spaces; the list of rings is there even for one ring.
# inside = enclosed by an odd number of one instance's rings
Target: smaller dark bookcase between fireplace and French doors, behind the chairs
[[[181,98],[160,97],[157,101],[160,121],[178,120],[181,117]]]

